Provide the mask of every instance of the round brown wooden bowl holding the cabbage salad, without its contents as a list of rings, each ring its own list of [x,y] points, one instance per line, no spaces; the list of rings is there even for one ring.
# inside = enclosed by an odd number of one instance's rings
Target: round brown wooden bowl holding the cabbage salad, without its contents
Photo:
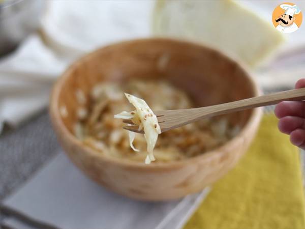
[[[160,65],[164,56],[168,56],[168,63]],[[187,91],[198,106],[259,94],[249,73],[237,62],[202,45],[152,38],[100,48],[69,67],[54,85],[50,102],[51,120],[60,144],[71,161],[89,178],[125,196],[164,201],[198,192],[217,181],[247,151],[261,119],[262,110],[259,108],[229,117],[242,129],[226,144],[181,161],[146,165],[109,157],[85,146],[72,133],[79,106],[76,90],[81,89],[89,98],[90,90],[97,83],[122,82],[135,77],[166,78]],[[69,114],[66,118],[59,112],[63,105]]]

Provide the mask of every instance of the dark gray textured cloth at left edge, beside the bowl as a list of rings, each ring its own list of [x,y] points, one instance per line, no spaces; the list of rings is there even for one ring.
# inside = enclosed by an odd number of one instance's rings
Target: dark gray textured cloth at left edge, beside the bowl
[[[20,187],[58,149],[47,111],[0,135],[0,200]]]

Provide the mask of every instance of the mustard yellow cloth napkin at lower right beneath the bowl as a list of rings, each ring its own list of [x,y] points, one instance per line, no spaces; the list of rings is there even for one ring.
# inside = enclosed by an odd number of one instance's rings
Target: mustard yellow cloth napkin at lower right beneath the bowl
[[[299,151],[265,115],[249,152],[219,180],[185,229],[305,228]]]

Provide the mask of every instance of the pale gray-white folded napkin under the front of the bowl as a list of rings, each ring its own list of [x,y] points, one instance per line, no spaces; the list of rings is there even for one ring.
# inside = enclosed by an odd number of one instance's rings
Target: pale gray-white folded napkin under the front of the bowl
[[[179,229],[208,191],[171,202],[135,201],[90,181],[59,153],[4,204],[65,229]],[[25,228],[13,218],[3,223]]]

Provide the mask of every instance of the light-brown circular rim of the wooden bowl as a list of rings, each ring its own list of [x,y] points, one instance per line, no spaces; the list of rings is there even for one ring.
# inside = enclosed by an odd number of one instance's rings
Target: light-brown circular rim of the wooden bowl
[[[105,45],[102,47],[99,47],[95,49],[92,52],[89,52],[78,60],[74,61],[60,77],[56,80],[56,82],[53,85],[51,94],[50,94],[50,103],[49,103],[49,113],[51,116],[51,121],[53,125],[53,129],[55,129],[56,135],[58,137],[58,132],[60,131],[60,134],[63,134],[66,136],[65,140],[68,140],[71,142],[72,145],[77,146],[78,148],[81,148],[83,150],[83,153],[89,154],[90,156],[100,158],[106,162],[116,164],[119,166],[132,166],[135,168],[139,169],[145,169],[145,170],[155,170],[155,169],[171,169],[171,168],[179,168],[181,166],[184,166],[185,164],[194,164],[196,161],[203,161],[203,160],[211,160],[215,158],[220,158],[223,154],[227,153],[227,148],[230,148],[236,144],[236,142],[241,138],[242,136],[248,133],[252,128],[257,128],[258,124],[260,123],[261,117],[262,117],[262,107],[254,108],[252,109],[251,115],[246,123],[245,126],[242,127],[241,131],[233,138],[230,140],[226,141],[225,144],[221,145],[220,147],[215,148],[214,150],[207,151],[203,154],[200,154],[195,157],[190,157],[190,158],[185,158],[183,160],[176,160],[176,161],[168,161],[168,162],[158,162],[158,163],[151,163],[151,164],[145,164],[143,162],[139,161],[132,161],[130,159],[126,158],[116,158],[113,156],[108,156],[103,153],[100,153],[93,148],[90,148],[86,145],[83,144],[81,140],[79,140],[76,136],[74,136],[73,133],[71,133],[68,128],[65,126],[62,117],[60,116],[59,112],[59,104],[58,104],[58,97],[60,94],[60,91],[62,90],[63,84],[65,83],[66,79],[69,78],[70,73],[75,69],[78,65],[80,65],[83,60],[89,59],[92,56],[96,55],[101,49],[105,48],[110,48],[111,46],[116,46],[116,45],[124,45],[124,44],[132,44],[132,43],[137,43],[137,42],[147,42],[147,41],[165,41],[165,42],[175,42],[175,43],[180,43],[180,44],[187,44],[187,45],[192,45],[192,46],[198,46],[198,48],[204,48],[208,49],[211,51],[214,51],[218,55],[223,56],[225,59],[228,59],[231,61],[233,64],[236,64],[240,69],[245,71],[245,75],[250,81],[251,87],[253,88],[254,91],[254,96],[258,96],[261,94],[261,91],[258,87],[258,84],[254,80],[252,74],[250,73],[251,71],[249,70],[248,67],[243,64],[243,62],[239,61],[238,58],[234,56],[232,58],[232,55],[228,55],[227,53],[223,53],[219,49],[213,47],[207,47],[203,44],[197,43],[197,42],[192,42],[192,41],[186,41],[182,39],[173,39],[173,38],[163,38],[163,37],[152,37],[152,38],[140,38],[140,39],[132,39],[132,40],[125,40],[125,41],[120,41],[120,42],[115,42],[109,45]],[[66,150],[63,149],[65,152]],[[67,152],[65,152],[68,154]],[[69,154],[68,154],[69,155]]]

